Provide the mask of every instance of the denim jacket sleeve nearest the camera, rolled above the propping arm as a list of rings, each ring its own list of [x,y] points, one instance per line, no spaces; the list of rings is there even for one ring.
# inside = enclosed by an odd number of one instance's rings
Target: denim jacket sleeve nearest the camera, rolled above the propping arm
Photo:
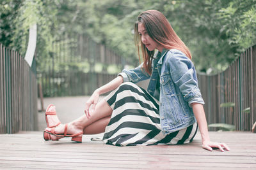
[[[172,54],[169,56],[170,74],[175,85],[179,87],[184,100],[188,102],[189,106],[191,103],[204,104],[192,61],[179,50],[172,50]]]

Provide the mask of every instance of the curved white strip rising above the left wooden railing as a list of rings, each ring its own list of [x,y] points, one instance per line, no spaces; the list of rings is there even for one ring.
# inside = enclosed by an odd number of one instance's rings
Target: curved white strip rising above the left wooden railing
[[[33,24],[29,27],[29,39],[28,39],[28,48],[25,55],[25,60],[28,62],[28,65],[31,67],[35,50],[36,50],[36,24]]]

